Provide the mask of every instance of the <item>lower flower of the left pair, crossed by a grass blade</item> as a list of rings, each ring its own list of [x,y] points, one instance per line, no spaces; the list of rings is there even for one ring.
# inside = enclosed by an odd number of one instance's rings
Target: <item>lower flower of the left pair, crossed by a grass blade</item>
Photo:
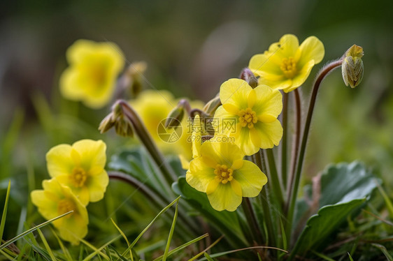
[[[87,234],[89,218],[86,207],[69,187],[60,185],[56,179],[44,180],[43,190],[31,191],[31,202],[47,220],[73,210],[73,213],[52,222],[62,239],[79,244],[79,239]]]

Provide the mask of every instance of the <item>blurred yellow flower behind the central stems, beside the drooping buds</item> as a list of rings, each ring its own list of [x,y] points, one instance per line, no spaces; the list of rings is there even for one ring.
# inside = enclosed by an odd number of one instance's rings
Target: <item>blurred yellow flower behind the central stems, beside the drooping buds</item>
[[[192,158],[192,142],[190,142],[192,123],[188,116],[185,115],[183,117],[181,128],[164,129],[163,127],[166,117],[178,104],[178,100],[169,91],[145,90],[138,95],[136,100],[132,100],[130,104],[138,112],[159,149],[166,154],[180,154],[183,161],[190,161]],[[203,103],[200,101],[192,101],[190,104],[192,107],[203,107]],[[159,126],[162,128],[159,129]],[[163,139],[162,133],[160,133],[162,130],[166,130],[168,133],[178,131],[178,136],[180,137],[166,141]]]

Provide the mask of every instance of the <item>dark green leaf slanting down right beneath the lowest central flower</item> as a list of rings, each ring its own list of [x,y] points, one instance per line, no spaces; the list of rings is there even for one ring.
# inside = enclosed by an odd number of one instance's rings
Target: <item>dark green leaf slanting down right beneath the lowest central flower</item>
[[[227,240],[231,241],[234,246],[245,246],[246,241],[241,232],[236,212],[217,211],[211,207],[206,193],[201,193],[192,188],[185,177],[179,177],[178,182],[172,186],[173,191],[180,193],[183,199],[187,200],[194,209],[203,214],[213,222],[218,230],[227,235]]]

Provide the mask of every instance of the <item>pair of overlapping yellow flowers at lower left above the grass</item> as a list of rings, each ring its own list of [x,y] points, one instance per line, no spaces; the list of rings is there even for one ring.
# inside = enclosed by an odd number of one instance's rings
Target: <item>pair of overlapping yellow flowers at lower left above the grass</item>
[[[101,200],[108,186],[106,144],[102,140],[59,144],[48,151],[46,161],[52,179],[43,181],[43,190],[31,191],[31,202],[48,220],[73,211],[53,225],[62,239],[78,244],[87,234],[87,204]]]

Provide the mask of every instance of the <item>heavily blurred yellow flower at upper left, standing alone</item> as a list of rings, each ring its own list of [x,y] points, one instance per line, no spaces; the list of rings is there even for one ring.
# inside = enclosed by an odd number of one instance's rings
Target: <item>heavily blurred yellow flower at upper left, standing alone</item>
[[[66,52],[69,68],[60,77],[60,91],[65,98],[82,100],[99,108],[113,95],[116,78],[124,67],[123,54],[114,43],[77,40]]]

